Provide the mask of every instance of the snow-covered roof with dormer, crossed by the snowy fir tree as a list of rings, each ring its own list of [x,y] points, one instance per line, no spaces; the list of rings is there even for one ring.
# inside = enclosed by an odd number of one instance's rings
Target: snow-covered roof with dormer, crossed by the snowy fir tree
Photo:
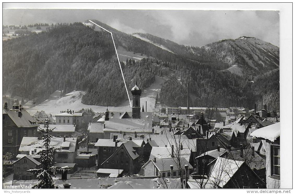
[[[66,142],[71,142],[69,149],[58,150],[57,152],[75,152],[77,137],[67,137],[65,138]],[[50,146],[55,148],[60,148],[63,143],[63,137],[52,137],[50,141]],[[30,152],[32,148],[43,148],[43,140],[39,140],[38,137],[23,137],[22,142],[19,146],[19,151]]]

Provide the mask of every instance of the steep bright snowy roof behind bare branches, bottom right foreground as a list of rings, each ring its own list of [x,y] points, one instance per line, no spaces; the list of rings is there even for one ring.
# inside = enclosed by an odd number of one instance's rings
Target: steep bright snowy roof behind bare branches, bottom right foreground
[[[223,188],[243,163],[243,161],[218,157],[210,173],[209,179],[219,187]]]

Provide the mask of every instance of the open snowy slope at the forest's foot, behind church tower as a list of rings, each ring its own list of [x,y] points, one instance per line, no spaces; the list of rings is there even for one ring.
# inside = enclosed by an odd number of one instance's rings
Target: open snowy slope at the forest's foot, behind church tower
[[[155,76],[155,82],[148,88],[142,89],[142,94],[140,98],[140,104],[141,107],[144,105],[145,108],[145,101],[147,101],[147,110],[148,112],[152,112],[155,110],[159,110],[160,106],[157,106],[155,109],[155,98],[157,96],[157,93],[160,94],[161,86],[163,82],[165,81],[165,78]],[[39,105],[36,105],[35,107],[26,108],[26,110],[31,114],[35,114],[37,111],[45,111],[46,113],[51,113],[53,116],[60,113],[62,110],[74,110],[78,111],[82,108],[87,109],[91,108],[92,110],[96,112],[105,112],[106,107],[105,106],[96,106],[96,105],[84,105],[82,104],[82,96],[86,92],[83,91],[72,91],[68,94],[66,94],[64,97],[60,97],[60,91],[55,91],[53,94],[50,95],[50,97],[42,102]],[[132,96],[130,96],[130,100],[132,100]],[[131,112],[132,109],[129,106],[129,100],[127,99],[125,102],[123,102],[119,107],[109,107],[110,111],[128,111]]]

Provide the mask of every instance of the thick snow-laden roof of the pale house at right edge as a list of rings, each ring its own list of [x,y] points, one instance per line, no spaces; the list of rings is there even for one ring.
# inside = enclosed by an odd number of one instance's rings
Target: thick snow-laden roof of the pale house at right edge
[[[259,128],[251,133],[252,137],[268,139],[272,142],[276,140],[277,137],[280,137],[280,123],[277,122],[266,127]]]

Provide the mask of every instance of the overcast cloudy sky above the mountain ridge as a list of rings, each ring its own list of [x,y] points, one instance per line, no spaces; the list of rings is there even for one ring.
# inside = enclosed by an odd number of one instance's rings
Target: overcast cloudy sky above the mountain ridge
[[[126,33],[149,33],[192,46],[241,36],[279,46],[278,11],[3,9],[3,25],[86,19],[97,19]]]

